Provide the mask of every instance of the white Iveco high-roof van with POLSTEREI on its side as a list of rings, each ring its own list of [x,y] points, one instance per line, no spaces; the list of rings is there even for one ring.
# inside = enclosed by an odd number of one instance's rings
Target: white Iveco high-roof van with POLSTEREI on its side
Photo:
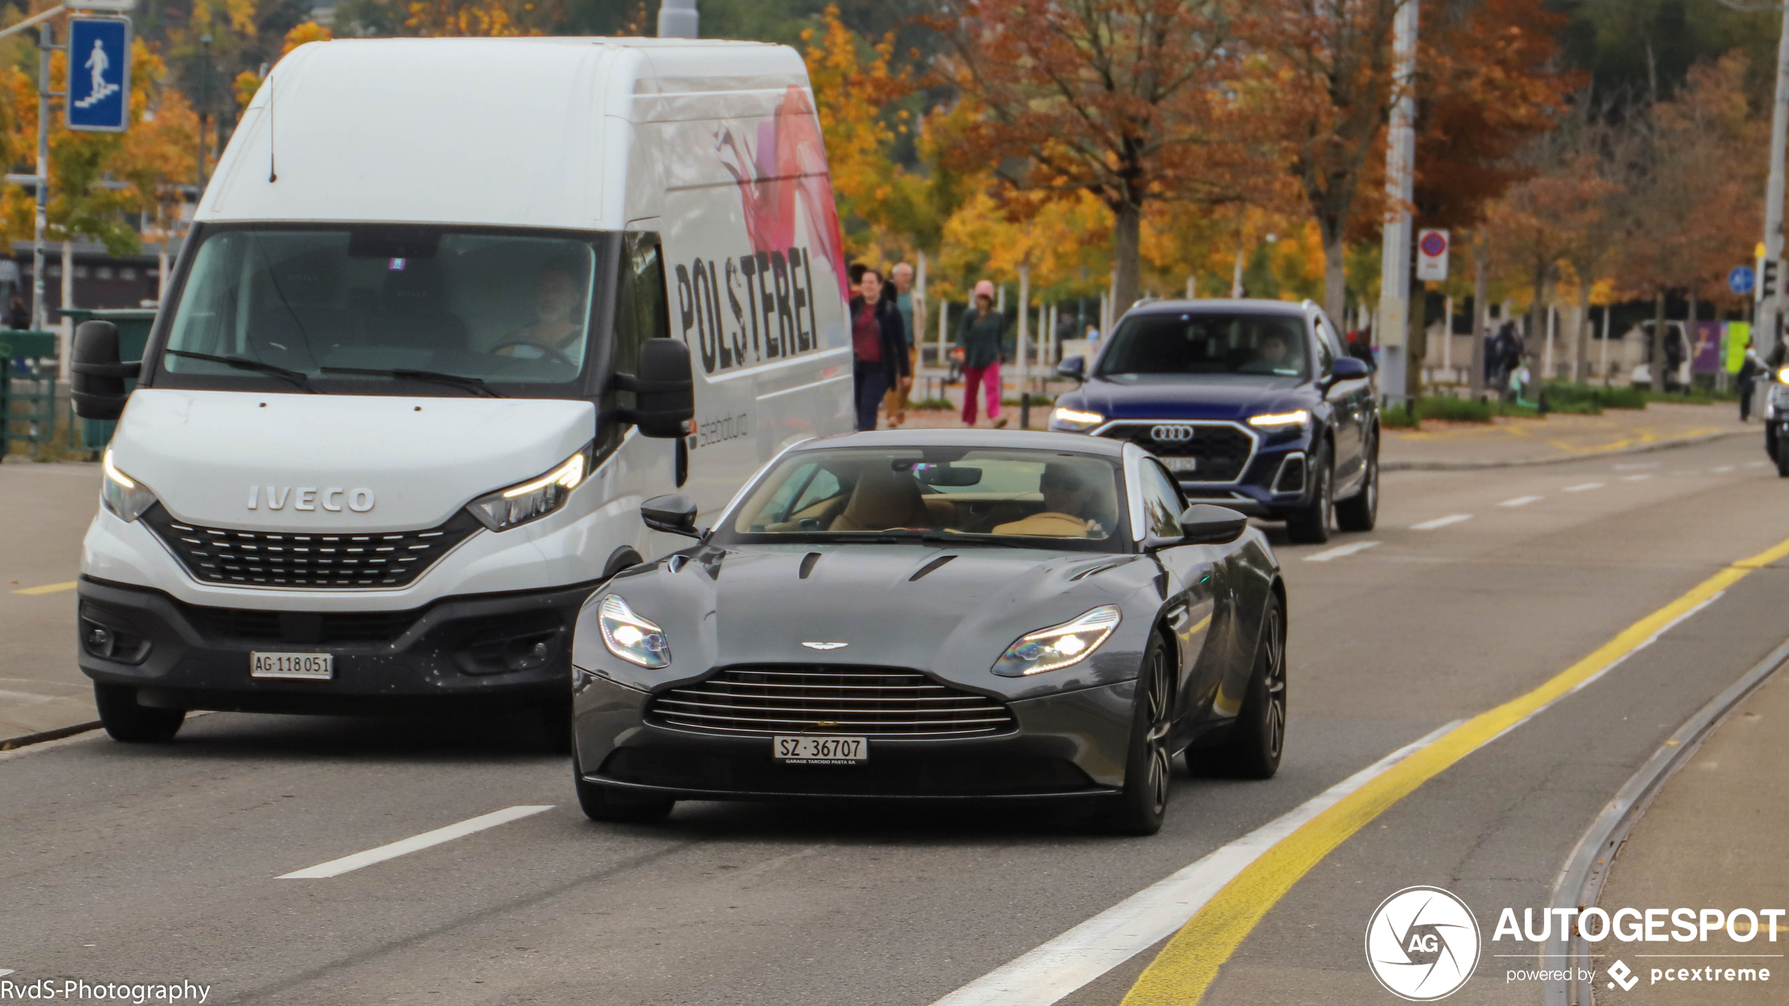
[[[844,261],[789,48],[306,45],[256,95],[136,363],[81,563],[120,740],[186,709],[569,699],[580,602],[850,429]],[[138,386],[125,398],[125,377]]]

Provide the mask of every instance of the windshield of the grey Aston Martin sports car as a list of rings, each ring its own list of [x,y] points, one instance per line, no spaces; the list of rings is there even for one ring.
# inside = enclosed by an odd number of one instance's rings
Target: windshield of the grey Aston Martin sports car
[[[986,541],[1118,552],[1118,465],[980,447],[798,450],[723,527],[733,541]]]

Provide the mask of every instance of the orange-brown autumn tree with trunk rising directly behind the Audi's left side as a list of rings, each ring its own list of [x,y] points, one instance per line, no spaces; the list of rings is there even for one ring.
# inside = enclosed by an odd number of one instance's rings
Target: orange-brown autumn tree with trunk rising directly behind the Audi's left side
[[[1098,198],[1120,306],[1140,289],[1150,204],[1234,200],[1263,173],[1267,152],[1242,122],[1254,4],[964,0],[952,14],[934,23],[982,114],[948,161],[993,170],[1004,193]]]

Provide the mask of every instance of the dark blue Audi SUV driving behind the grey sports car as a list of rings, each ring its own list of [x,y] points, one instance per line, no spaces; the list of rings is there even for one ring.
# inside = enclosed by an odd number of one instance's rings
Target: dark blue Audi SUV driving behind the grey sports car
[[[1143,302],[1059,373],[1081,386],[1050,429],[1138,443],[1191,502],[1285,520],[1293,541],[1378,520],[1372,366],[1310,300]]]

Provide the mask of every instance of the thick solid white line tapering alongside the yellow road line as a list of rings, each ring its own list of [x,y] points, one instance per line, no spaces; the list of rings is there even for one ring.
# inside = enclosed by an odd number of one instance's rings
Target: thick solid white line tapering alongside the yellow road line
[[[1277,842],[1462,722],[1465,720],[1454,720],[1386,754],[1279,818],[1208,852],[1197,863],[1183,867],[1068,933],[1013,958],[932,1006],[1050,1006],[1172,936],[1211,901],[1211,895],[1224,890],[1224,884],[1236,879],[1236,874]]]

